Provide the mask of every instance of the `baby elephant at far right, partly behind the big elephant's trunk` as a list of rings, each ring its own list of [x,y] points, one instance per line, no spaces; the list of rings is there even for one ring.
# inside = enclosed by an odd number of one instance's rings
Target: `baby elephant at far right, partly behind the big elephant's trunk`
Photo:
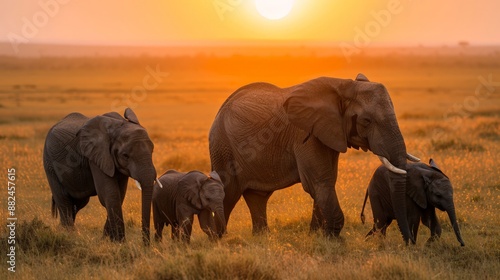
[[[455,231],[458,242],[465,246],[460,229],[458,228],[453,203],[453,187],[448,177],[437,167],[432,159],[430,166],[423,163],[408,163],[406,175],[406,208],[408,224],[415,240],[417,240],[418,226],[420,220],[431,230],[431,237],[427,242],[431,242],[441,236],[441,226],[436,217],[436,208],[446,211]],[[361,210],[361,221],[365,222],[364,210],[366,199],[370,197],[372,205],[374,225],[368,232],[367,237],[377,230],[385,236],[387,227],[395,219],[392,208],[389,170],[380,166],[377,168],[368,185],[363,209]]]

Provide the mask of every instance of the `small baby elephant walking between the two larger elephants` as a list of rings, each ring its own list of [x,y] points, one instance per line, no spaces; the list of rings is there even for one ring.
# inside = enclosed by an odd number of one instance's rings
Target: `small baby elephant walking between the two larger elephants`
[[[222,237],[224,186],[217,172],[209,176],[200,171],[169,170],[160,177],[163,188],[153,188],[155,240],[161,241],[164,226],[172,226],[172,239],[189,242],[193,217],[198,215],[201,229],[211,240]]]

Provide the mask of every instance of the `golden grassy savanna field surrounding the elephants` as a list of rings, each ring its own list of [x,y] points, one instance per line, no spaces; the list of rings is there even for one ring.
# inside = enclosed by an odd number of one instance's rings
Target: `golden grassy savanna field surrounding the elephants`
[[[154,88],[138,94],[150,75]],[[446,213],[441,240],[404,246],[394,222],[385,239],[364,240],[371,228],[359,214],[379,160],[349,150],[339,162],[336,191],[345,215],[342,240],[309,233],[312,199],[295,185],[268,205],[270,233],[252,236],[241,200],[228,234],[210,243],[198,225],[191,244],[168,238],[145,248],[140,238],[140,191],[129,183],[123,205],[126,242],[102,239],[105,209],[96,197],[68,232],[50,213],[42,165],[48,129],[70,112],[88,116],[134,108],[155,143],[158,173],[210,171],[208,131],[238,87],[267,81],[286,87],[318,76],[382,82],[391,94],[410,153],[435,159],[454,185],[460,247]],[[168,74],[167,74],[168,73]],[[490,78],[491,75],[491,78]],[[482,78],[481,78],[482,77]],[[481,80],[493,81],[490,88]],[[0,58],[2,223],[7,219],[7,169],[16,168],[16,272],[7,270],[7,235],[0,231],[0,278],[19,279],[498,279],[500,277],[500,55],[355,57]],[[496,82],[496,84],[495,84]],[[476,94],[477,93],[477,94]],[[196,222],[197,223],[197,222]],[[167,229],[166,234],[170,232]],[[164,233],[165,234],[165,233]]]

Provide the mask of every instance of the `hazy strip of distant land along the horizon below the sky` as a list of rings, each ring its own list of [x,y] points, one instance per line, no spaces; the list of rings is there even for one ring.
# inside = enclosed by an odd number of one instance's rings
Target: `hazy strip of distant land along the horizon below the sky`
[[[355,44],[342,45],[335,42],[304,41],[256,41],[244,42],[210,42],[209,44],[188,44],[182,42],[169,45],[97,45],[97,44],[65,44],[49,42],[28,42],[12,45],[8,41],[0,41],[0,56],[8,57],[77,57],[77,56],[193,56],[193,55],[250,55],[250,56],[344,56],[349,59],[353,55],[386,55],[394,51],[403,54],[500,54],[499,45],[473,45],[467,41],[455,45],[387,45]]]

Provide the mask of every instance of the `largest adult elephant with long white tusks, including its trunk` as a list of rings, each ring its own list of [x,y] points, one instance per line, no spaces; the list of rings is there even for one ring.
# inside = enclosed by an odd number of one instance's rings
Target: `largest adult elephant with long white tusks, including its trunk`
[[[339,153],[371,150],[393,171],[391,199],[403,238],[406,153],[387,89],[363,74],[321,77],[289,88],[246,85],[222,105],[209,134],[212,170],[225,185],[226,222],[243,195],[253,232],[268,229],[266,207],[278,189],[302,183],[314,199],[311,229],[338,236],[344,215],[335,192]]]

